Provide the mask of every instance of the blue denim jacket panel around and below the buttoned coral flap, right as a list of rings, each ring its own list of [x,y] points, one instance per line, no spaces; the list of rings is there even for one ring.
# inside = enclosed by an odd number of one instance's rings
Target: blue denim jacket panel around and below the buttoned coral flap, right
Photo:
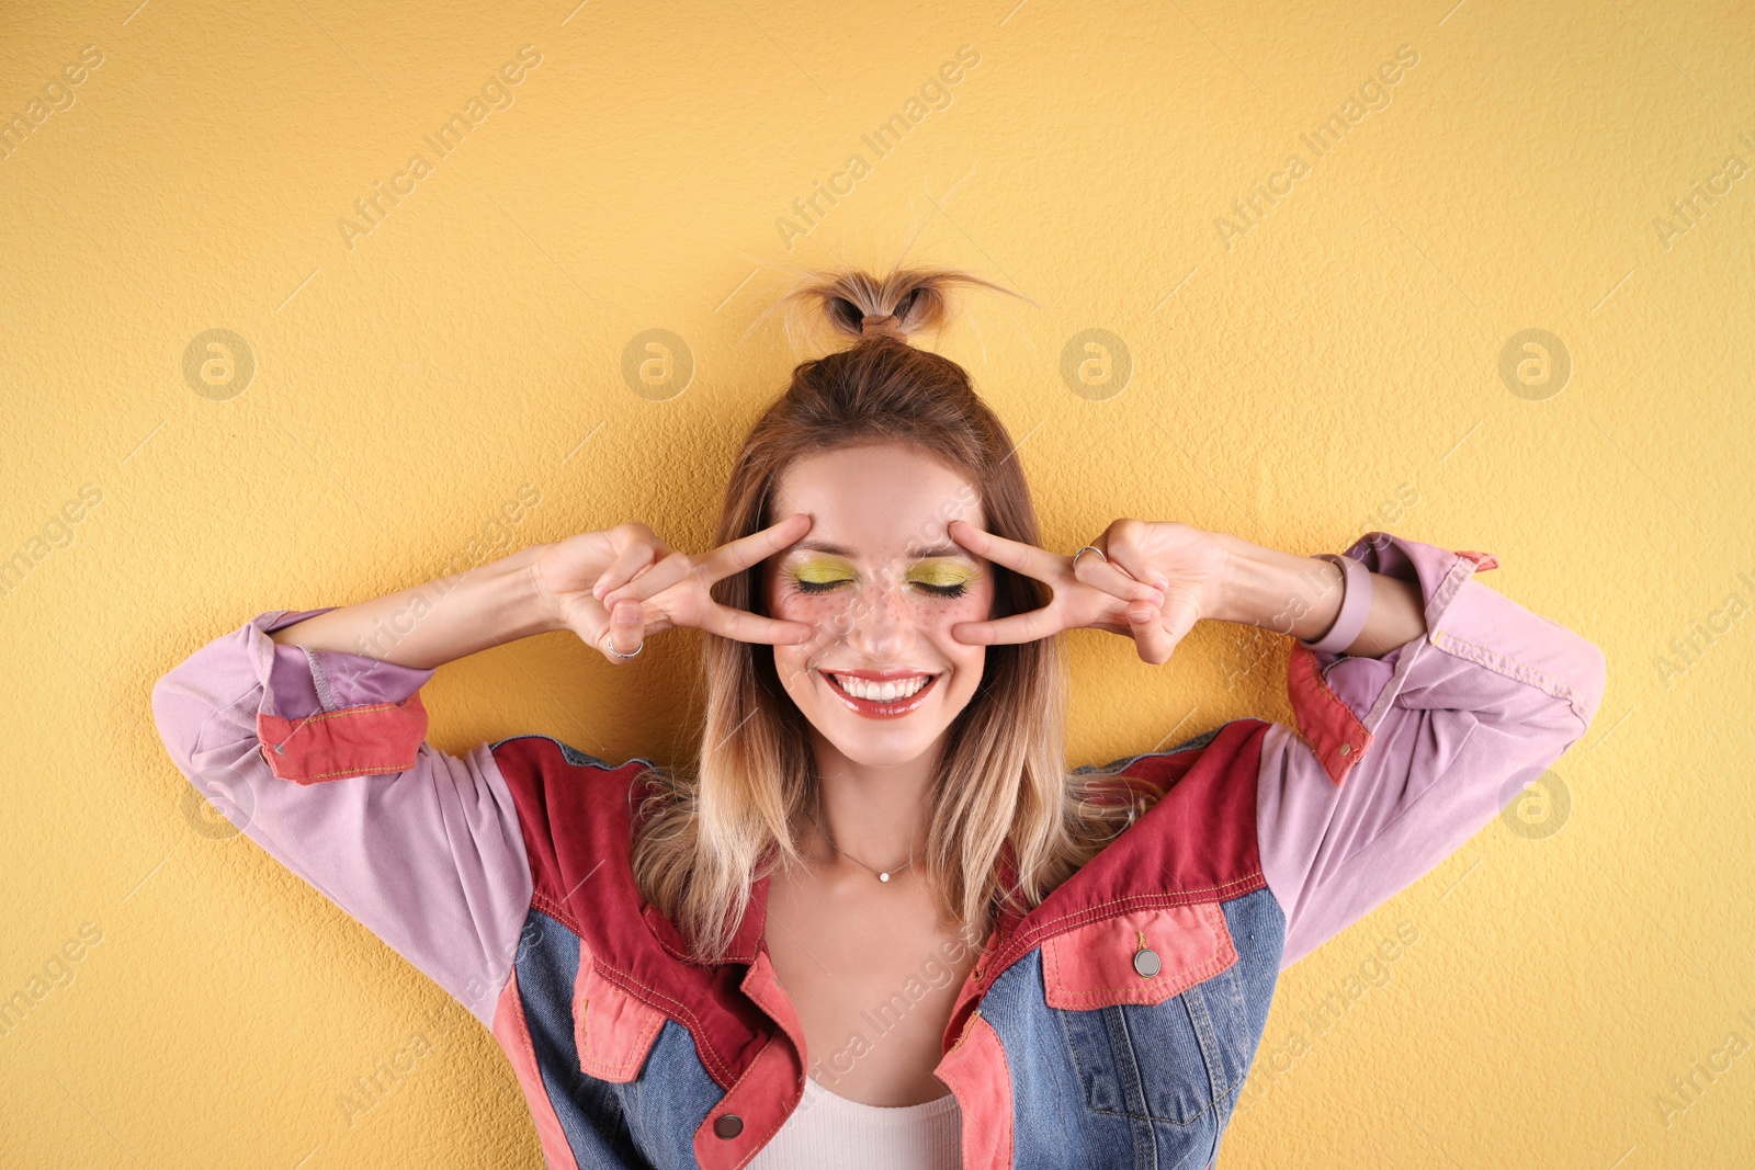
[[[981,1003],[1013,1081],[1014,1165],[1204,1170],[1250,1072],[1279,975],[1267,889],[1221,903],[1237,961],[1164,1003],[1048,1007],[1041,951]]]

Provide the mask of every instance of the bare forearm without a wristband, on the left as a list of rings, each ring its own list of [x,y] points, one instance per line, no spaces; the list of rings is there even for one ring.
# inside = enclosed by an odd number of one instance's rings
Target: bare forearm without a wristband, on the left
[[[534,544],[511,556],[307,617],[270,637],[281,646],[365,654],[433,668],[476,651],[560,628],[537,588]]]

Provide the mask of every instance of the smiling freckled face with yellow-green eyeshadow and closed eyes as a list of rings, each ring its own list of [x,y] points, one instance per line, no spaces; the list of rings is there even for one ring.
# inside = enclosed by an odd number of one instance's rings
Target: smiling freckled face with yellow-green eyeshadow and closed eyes
[[[769,561],[767,609],[816,637],[774,647],[781,684],[848,760],[918,760],[986,661],[951,626],[992,616],[992,567],[944,535],[958,517],[986,526],[976,488],[914,447],[874,442],[795,460],[772,514],[793,512],[811,530]]]

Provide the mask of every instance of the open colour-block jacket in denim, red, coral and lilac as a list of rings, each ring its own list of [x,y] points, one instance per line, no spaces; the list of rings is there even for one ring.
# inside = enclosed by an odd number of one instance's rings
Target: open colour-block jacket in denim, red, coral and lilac
[[[1381,531],[1346,556],[1418,582],[1427,631],[1376,660],[1293,642],[1293,726],[1111,765],[1164,795],[997,924],[944,1031],[969,1170],[1211,1166],[1279,972],[1585,735],[1601,651],[1478,582],[1492,556]],[[549,1166],[746,1165],[811,1068],[767,882],[725,961],[686,960],[628,863],[646,761],[541,735],[433,751],[432,670],[267,637],[316,612],[260,614],[158,681],[183,774],[491,1030]]]

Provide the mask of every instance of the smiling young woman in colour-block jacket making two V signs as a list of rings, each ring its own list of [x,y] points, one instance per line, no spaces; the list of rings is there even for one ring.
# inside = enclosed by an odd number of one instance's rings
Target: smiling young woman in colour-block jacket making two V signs
[[[1209,1166],[1281,970],[1585,735],[1602,654],[1381,531],[1118,519],[1037,547],[1013,442],[907,337],[955,272],[823,277],[851,347],[749,432],[718,547],[625,523],[270,610],[153,691],[244,833],[491,1028],[551,1166]],[[1069,774],[1060,631],[1293,639],[1295,726]],[[433,668],[706,631],[677,770],[425,744]]]

